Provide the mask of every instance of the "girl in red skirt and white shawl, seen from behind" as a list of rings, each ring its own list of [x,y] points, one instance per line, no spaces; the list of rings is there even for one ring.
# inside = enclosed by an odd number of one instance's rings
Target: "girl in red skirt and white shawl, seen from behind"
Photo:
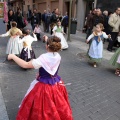
[[[60,39],[55,36],[44,38],[47,53],[37,59],[26,62],[15,55],[8,56],[8,60],[14,60],[23,68],[39,69],[20,105],[16,120],[73,120],[65,85],[58,76]]]

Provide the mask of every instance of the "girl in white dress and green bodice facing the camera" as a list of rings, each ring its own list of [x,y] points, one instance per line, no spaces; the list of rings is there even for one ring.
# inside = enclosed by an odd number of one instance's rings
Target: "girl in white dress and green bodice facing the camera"
[[[58,20],[57,25],[53,28],[53,35],[61,39],[61,49],[67,49],[68,44],[63,34],[65,34],[63,31],[63,27],[61,26],[60,20]]]

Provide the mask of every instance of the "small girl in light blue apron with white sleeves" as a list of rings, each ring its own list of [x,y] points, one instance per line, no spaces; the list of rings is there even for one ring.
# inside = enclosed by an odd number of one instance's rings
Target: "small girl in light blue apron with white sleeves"
[[[103,38],[108,38],[110,35],[106,35],[102,30],[104,29],[103,24],[99,23],[96,25],[94,32],[88,37],[87,43],[92,39],[90,48],[88,50],[88,56],[93,62],[93,66],[97,67],[96,63],[101,62],[103,52]]]

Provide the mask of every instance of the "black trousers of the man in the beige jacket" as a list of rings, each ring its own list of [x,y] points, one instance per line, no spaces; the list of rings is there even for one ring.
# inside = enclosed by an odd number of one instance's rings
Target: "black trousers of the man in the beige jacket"
[[[111,38],[112,40],[109,41],[108,44],[108,49],[112,50],[114,46],[117,46],[118,41],[117,41],[117,36],[118,36],[118,32],[111,32]]]

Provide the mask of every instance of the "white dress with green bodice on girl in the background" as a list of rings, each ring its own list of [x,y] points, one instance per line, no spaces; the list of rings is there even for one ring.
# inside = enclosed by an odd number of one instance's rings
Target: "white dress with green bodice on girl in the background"
[[[68,44],[67,44],[67,41],[65,39],[65,37],[63,36],[63,28],[60,26],[60,27],[57,27],[55,26],[53,28],[53,32],[55,32],[55,36],[59,37],[61,39],[61,49],[67,49],[68,48]]]

